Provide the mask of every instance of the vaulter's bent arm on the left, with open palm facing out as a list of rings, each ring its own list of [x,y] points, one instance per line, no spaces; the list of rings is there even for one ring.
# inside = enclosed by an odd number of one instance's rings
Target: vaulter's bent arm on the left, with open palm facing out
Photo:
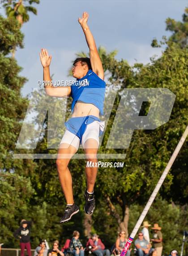
[[[71,86],[53,86],[50,77],[51,55],[48,55],[47,49],[41,49],[40,61],[43,66],[43,81],[46,94],[54,97],[69,97],[71,94]]]

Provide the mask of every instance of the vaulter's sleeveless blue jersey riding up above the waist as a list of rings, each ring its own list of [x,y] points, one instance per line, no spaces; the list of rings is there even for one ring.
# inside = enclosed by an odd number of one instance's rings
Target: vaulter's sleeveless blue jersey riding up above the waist
[[[71,97],[73,98],[71,110],[73,112],[77,100],[91,103],[96,106],[103,115],[106,83],[91,69],[81,79],[77,79],[71,85]]]

